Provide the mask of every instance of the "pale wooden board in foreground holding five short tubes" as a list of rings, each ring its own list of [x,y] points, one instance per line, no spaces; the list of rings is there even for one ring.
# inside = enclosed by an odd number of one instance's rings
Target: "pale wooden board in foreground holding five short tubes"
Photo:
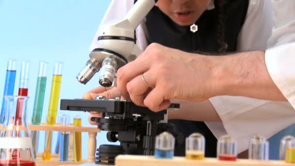
[[[154,156],[119,155],[116,166],[295,166],[283,161],[251,161],[238,159],[236,162],[218,161],[215,158],[187,160],[184,157],[156,159]]]

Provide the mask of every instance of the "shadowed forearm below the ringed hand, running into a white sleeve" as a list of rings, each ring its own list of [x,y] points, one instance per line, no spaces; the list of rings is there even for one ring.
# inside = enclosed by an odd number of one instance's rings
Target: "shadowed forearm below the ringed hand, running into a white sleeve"
[[[209,100],[202,102],[171,100],[180,103],[180,109],[168,110],[168,119],[183,119],[193,121],[220,121],[213,105]]]

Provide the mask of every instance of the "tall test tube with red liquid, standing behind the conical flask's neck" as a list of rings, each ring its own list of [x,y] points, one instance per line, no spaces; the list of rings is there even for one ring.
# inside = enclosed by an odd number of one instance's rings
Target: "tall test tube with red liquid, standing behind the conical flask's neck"
[[[30,62],[21,61],[20,68],[20,79],[19,79],[19,88],[18,88],[18,96],[28,96],[29,91],[29,66]],[[17,104],[16,106],[16,123],[21,125],[22,119],[22,104]]]

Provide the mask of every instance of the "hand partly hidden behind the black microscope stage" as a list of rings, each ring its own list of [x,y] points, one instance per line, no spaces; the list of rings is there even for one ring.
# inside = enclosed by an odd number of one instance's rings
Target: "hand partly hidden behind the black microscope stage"
[[[120,97],[120,93],[116,87],[103,87],[98,86],[83,95],[83,99],[92,100],[95,99],[96,96],[104,96],[106,99],[115,99],[116,97]],[[90,115],[88,117],[88,121],[92,125],[98,125],[96,122],[91,121],[93,117],[101,117],[101,112],[90,111]]]

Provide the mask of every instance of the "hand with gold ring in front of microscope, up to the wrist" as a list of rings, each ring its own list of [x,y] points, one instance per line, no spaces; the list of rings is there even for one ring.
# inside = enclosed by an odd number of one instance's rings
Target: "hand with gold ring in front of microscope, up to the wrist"
[[[210,98],[212,67],[210,56],[153,43],[134,61],[118,69],[117,87],[135,104],[161,111],[170,105],[170,99]]]

